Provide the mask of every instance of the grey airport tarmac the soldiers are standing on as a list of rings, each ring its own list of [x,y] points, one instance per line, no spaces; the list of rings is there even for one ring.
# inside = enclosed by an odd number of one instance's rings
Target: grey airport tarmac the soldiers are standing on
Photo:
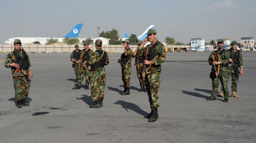
[[[222,97],[206,101],[212,91],[210,52],[166,53],[162,63],[158,108],[154,123],[143,118],[150,112],[147,93],[137,92],[139,81],[133,66],[130,95],[123,90],[121,53],[108,53],[105,99],[102,108],[90,90],[72,90],[75,73],[70,53],[31,53],[33,78],[30,106],[16,107],[11,71],[0,54],[1,143],[252,143],[256,140],[255,52],[242,52],[244,75],[237,94],[224,103]],[[220,87],[220,86],[219,86]],[[229,81],[231,95],[231,78]],[[219,89],[220,91],[220,89]]]

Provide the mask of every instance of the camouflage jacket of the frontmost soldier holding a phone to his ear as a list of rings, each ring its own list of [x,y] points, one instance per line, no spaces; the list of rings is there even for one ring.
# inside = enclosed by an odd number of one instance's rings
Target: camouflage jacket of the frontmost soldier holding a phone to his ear
[[[155,42],[154,44],[149,44],[147,45],[145,48],[142,47],[142,48],[138,48],[138,51],[137,51],[137,54],[136,55],[140,55],[142,52],[144,52],[144,50],[146,48],[150,48],[152,46],[154,46],[157,42]],[[154,72],[157,72],[157,71],[161,71],[162,68],[161,68],[161,63],[163,63],[165,61],[165,47],[164,45],[159,42],[157,45],[156,45],[156,48],[154,50],[154,53],[156,55],[158,55],[158,57],[153,61],[154,64],[152,64],[152,66],[148,69],[147,73],[146,74],[149,74],[149,73],[154,73]],[[158,66],[157,68],[154,68],[153,65],[157,66],[157,65],[160,65]]]

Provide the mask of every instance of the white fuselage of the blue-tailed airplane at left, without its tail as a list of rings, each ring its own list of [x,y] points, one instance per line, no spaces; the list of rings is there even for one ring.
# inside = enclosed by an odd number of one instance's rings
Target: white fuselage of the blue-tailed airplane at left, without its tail
[[[47,39],[50,39],[49,37],[15,37],[15,38],[10,38],[6,40],[4,43],[5,44],[13,44],[15,39],[20,39],[22,44],[27,44],[27,43],[33,43],[33,42],[40,42],[40,44],[44,45],[47,42]],[[58,42],[63,42],[64,38],[54,38],[58,39]]]

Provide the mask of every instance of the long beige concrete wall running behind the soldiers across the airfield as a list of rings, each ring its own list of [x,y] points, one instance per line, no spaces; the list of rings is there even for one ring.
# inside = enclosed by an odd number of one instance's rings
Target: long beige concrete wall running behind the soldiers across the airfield
[[[72,52],[75,47],[74,45],[22,45],[23,49],[27,52]],[[135,51],[137,48],[137,45],[130,45],[129,46],[132,51]],[[173,51],[174,48],[189,48],[190,46],[187,45],[166,45],[165,47],[168,48],[168,51]],[[83,45],[79,45],[80,49],[83,49]],[[89,48],[93,51],[96,50],[95,45],[89,45]],[[122,45],[102,45],[102,48],[107,52],[119,52],[124,51],[124,47]],[[6,45],[6,44],[0,44],[0,52],[11,52],[14,50],[13,45]]]

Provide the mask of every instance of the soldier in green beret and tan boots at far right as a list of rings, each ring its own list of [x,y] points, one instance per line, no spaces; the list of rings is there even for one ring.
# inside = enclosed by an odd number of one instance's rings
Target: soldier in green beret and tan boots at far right
[[[229,63],[232,63],[233,59],[236,60],[236,63],[238,64],[237,66],[241,70],[240,75],[243,75],[244,66],[243,66],[242,53],[241,53],[241,51],[237,50],[237,42],[236,41],[232,41],[230,45],[231,45],[231,49],[227,50],[230,55]],[[227,68],[227,79],[229,79],[230,75],[231,75],[231,79],[232,79],[232,86],[231,86],[232,94],[231,94],[231,96],[239,98],[239,96],[236,93],[237,92],[237,77],[235,75],[233,66],[230,66]],[[219,95],[224,97],[223,87],[221,88],[221,93],[219,93]]]

